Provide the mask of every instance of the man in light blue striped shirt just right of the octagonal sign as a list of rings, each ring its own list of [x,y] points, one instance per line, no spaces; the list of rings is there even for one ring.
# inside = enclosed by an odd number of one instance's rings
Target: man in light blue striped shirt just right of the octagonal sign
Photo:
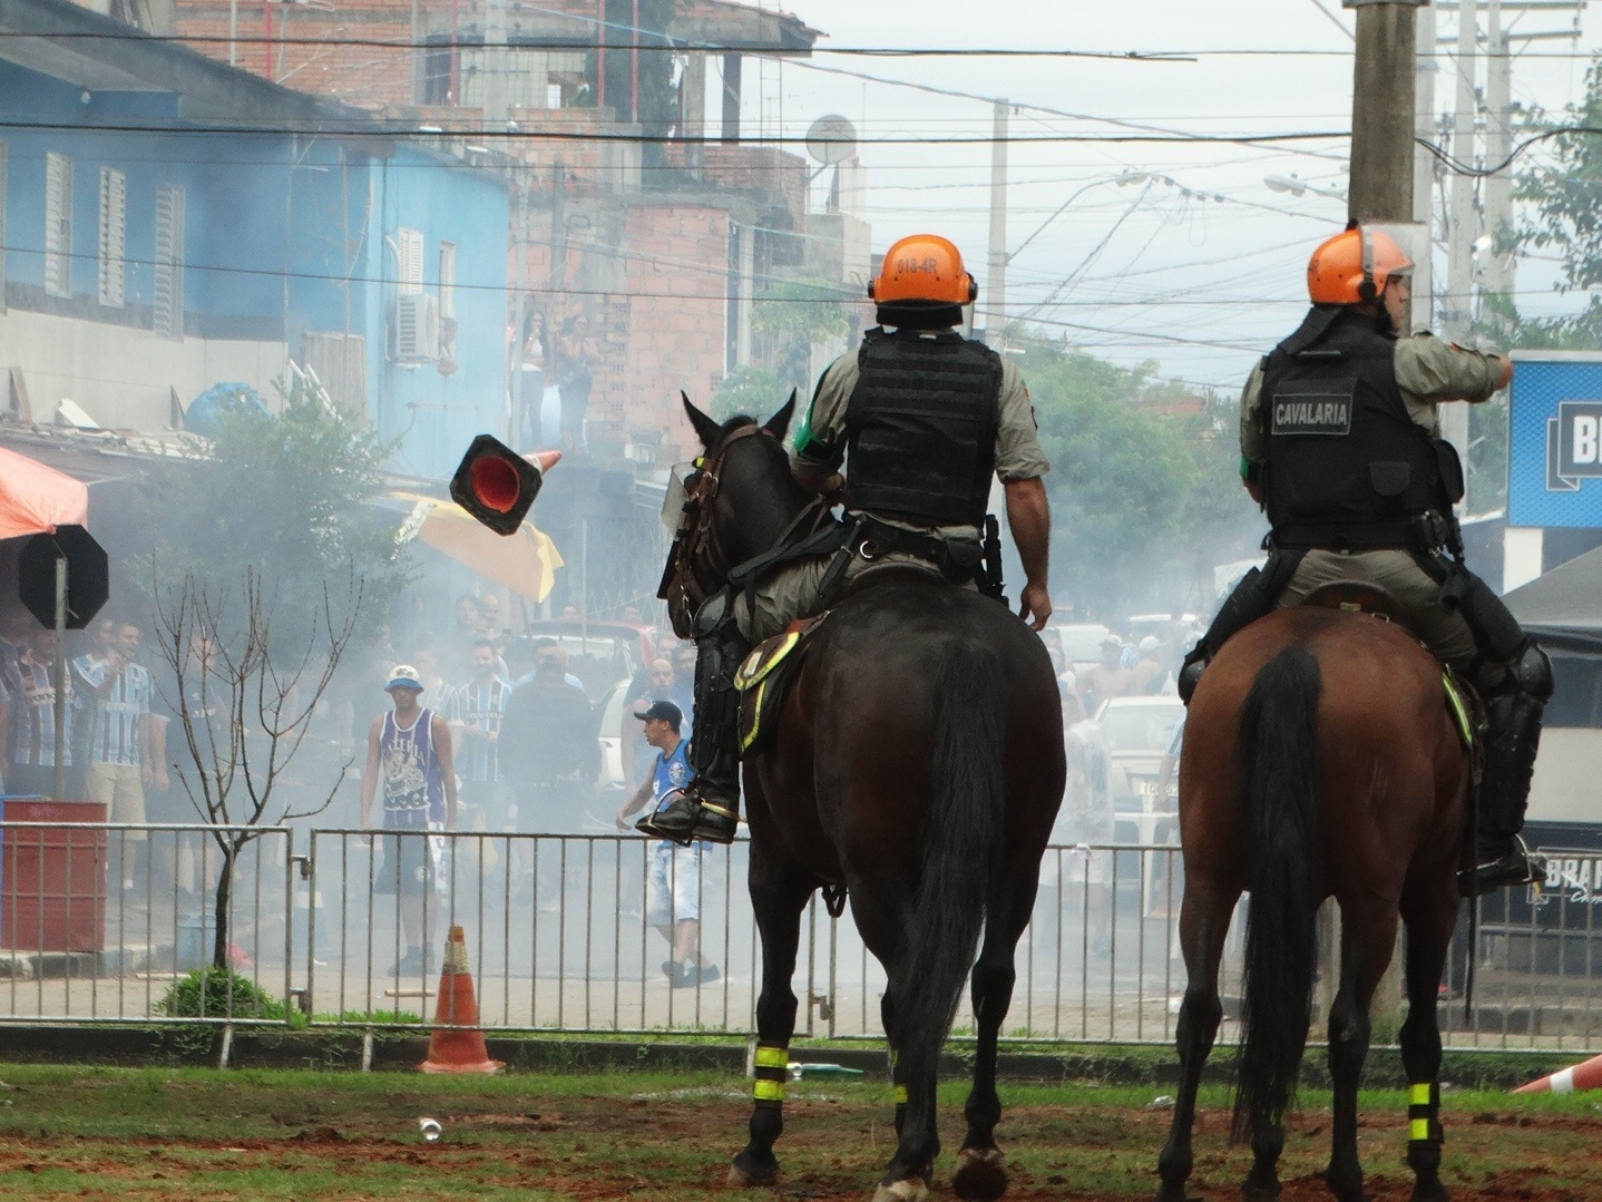
[[[78,678],[93,689],[88,798],[106,806],[107,822],[144,822],[144,787],[152,782],[154,760],[151,673],[133,662],[139,654],[139,627],[107,623],[98,643],[95,654],[74,662]],[[120,832],[114,851],[123,843],[144,843],[144,832]],[[133,856],[117,859],[122,861],[122,888],[131,889]]]

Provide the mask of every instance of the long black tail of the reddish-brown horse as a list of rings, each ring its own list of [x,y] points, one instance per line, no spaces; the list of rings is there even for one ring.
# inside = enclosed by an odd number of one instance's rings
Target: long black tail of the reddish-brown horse
[[[1306,647],[1259,672],[1240,712],[1251,910],[1234,1138],[1278,1127],[1296,1096],[1312,1018],[1322,888],[1317,723],[1322,681]]]

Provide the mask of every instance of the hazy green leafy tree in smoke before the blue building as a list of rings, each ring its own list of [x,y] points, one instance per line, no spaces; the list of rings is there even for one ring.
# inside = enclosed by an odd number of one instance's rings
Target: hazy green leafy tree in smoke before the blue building
[[[154,553],[120,567],[152,603],[186,577],[219,601],[234,598],[255,572],[266,585],[274,646],[304,651],[325,583],[354,574],[365,633],[405,585],[407,564],[394,555],[394,522],[362,505],[383,487],[392,446],[325,410],[303,386],[280,385],[280,415],[255,407],[221,415],[210,446],[195,439],[195,458],[152,481],[151,529],[160,538]]]

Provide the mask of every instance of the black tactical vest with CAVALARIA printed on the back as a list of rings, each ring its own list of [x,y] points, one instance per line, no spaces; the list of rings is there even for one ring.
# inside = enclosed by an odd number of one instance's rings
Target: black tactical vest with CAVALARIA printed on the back
[[[1402,547],[1408,519],[1450,514],[1463,495],[1456,452],[1408,417],[1394,353],[1373,317],[1320,306],[1264,361],[1258,422],[1275,542]]]

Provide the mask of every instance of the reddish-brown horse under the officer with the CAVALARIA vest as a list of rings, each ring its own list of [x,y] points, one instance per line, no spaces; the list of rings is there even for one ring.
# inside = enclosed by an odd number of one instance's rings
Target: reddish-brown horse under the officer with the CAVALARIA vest
[[[1407,928],[1402,1063],[1413,1202],[1443,1202],[1437,987],[1458,914],[1456,869],[1471,763],[1442,668],[1376,617],[1282,609],[1229,639],[1197,686],[1179,758],[1185,891],[1179,939],[1179,1093],[1158,1160],[1158,1202],[1184,1202],[1197,1087],[1218,1034],[1218,970],[1230,914],[1246,920],[1243,1035],[1232,1138],[1250,1138],[1242,1197],[1278,1197],[1285,1112],[1294,1103],[1317,970],[1315,917],[1341,909],[1330,1006],[1331,1154],[1325,1183],[1362,1202],[1357,1088],[1370,1002]]]

